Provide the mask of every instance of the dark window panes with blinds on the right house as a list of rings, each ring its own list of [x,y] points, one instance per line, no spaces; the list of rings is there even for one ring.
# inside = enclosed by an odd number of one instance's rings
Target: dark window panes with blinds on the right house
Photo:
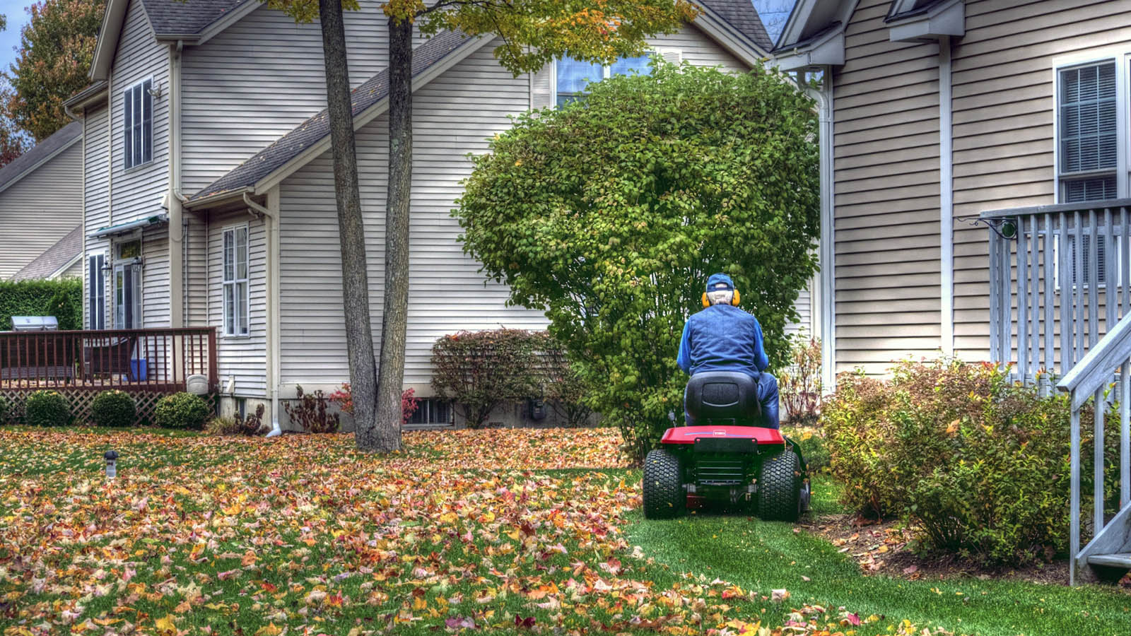
[[[1115,61],[1062,69],[1057,101],[1061,201],[1116,198]]]

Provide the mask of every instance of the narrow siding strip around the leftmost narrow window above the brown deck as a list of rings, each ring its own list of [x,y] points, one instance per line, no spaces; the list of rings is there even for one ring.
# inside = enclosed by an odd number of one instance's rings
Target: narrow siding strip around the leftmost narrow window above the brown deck
[[[109,144],[109,136],[106,134],[106,114],[107,110],[105,106],[100,106],[96,109],[87,109],[83,113],[83,141],[80,141],[84,147],[86,157],[84,158],[86,164],[86,182],[84,183],[84,206],[85,206],[85,232],[89,234],[90,232],[97,230],[98,227],[105,227],[110,224],[110,206],[109,206],[109,174],[110,165],[106,162],[106,144]],[[109,263],[110,242],[106,239],[92,239],[86,237],[84,239],[84,255],[83,255],[83,310],[84,310],[84,325],[89,328],[90,326],[90,307],[89,307],[89,289],[90,289],[90,277],[88,269],[88,259],[92,255],[103,253],[106,255],[106,263]],[[112,326],[110,321],[110,278],[106,274],[104,276],[103,284],[106,289],[106,307],[103,308],[106,317],[105,325]]]

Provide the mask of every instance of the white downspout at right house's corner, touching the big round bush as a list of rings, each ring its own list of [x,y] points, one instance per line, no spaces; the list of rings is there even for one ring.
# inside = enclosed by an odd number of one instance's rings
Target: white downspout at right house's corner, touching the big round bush
[[[805,93],[817,101],[819,115],[820,173],[821,173],[821,239],[820,239],[820,336],[821,336],[821,385],[824,393],[832,393],[837,386],[836,373],[836,237],[834,234],[834,181],[832,181],[832,68],[821,67],[821,88],[811,88],[798,74]]]

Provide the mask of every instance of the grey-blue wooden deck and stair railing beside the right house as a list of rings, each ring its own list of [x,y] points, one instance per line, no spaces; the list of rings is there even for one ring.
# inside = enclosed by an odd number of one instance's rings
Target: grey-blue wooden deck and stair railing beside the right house
[[[1111,566],[1131,528],[1131,199],[982,213],[990,225],[990,352],[1017,379],[1071,395],[1070,583]],[[1114,386],[1117,390],[1108,392]],[[1080,414],[1094,413],[1095,492],[1081,523]],[[1104,413],[1120,412],[1120,506],[1104,518]],[[1106,523],[1105,523],[1106,521]],[[1081,527],[1090,528],[1083,548]],[[1122,558],[1122,557],[1121,557]],[[1105,560],[1106,559],[1106,560]]]

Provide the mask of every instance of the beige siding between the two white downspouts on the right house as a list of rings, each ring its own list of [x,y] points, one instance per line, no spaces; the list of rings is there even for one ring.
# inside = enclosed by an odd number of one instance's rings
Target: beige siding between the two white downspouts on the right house
[[[834,77],[837,371],[941,346],[939,46],[890,42],[889,6],[860,2]]]

